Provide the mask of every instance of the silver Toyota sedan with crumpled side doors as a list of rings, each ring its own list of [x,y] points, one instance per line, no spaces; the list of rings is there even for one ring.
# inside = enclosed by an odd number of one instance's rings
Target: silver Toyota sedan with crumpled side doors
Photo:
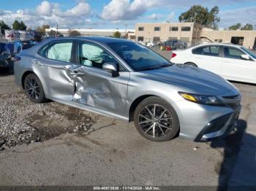
[[[222,77],[125,39],[47,39],[15,57],[15,81],[34,103],[134,121],[152,141],[225,136],[241,109],[239,91]]]

